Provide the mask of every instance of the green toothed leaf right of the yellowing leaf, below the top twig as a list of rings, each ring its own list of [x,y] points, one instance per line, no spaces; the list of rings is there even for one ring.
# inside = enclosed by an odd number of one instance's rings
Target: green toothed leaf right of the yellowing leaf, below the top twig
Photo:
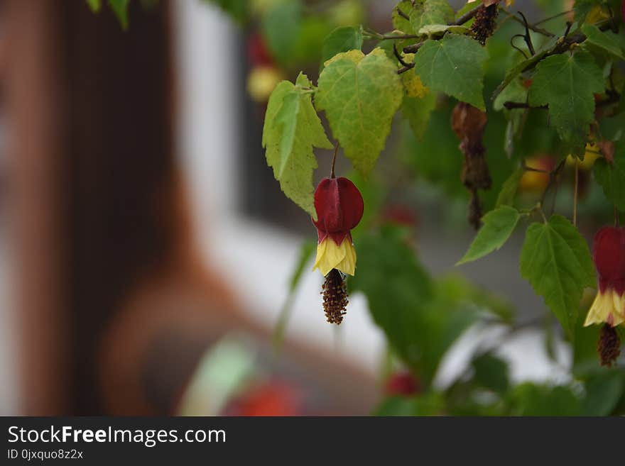
[[[415,55],[415,73],[431,90],[484,110],[484,61],[488,53],[466,35],[427,40]]]

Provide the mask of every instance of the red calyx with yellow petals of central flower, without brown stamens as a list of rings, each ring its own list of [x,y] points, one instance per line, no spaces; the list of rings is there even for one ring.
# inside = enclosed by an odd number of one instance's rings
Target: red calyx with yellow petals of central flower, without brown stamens
[[[353,275],[356,251],[352,245],[352,228],[358,225],[364,211],[362,195],[354,183],[344,177],[325,178],[315,190],[315,211],[319,243],[315,267],[325,276],[332,269]]]

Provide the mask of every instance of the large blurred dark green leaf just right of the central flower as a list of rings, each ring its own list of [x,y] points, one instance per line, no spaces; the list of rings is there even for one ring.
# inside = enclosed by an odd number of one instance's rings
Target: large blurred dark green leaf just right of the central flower
[[[433,282],[401,228],[385,226],[363,235],[356,247],[358,268],[349,279],[350,292],[364,292],[374,322],[423,387],[429,387],[442,357],[480,312],[501,310],[500,300],[466,280]]]

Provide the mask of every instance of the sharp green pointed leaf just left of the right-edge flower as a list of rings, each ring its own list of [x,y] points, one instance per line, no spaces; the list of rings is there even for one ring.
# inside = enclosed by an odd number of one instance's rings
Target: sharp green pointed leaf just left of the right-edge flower
[[[588,245],[577,228],[558,215],[532,223],[521,249],[521,275],[572,335],[582,292],[595,284]]]

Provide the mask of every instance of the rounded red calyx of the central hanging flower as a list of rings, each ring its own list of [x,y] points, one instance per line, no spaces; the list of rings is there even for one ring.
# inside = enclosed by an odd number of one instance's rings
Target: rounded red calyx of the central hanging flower
[[[326,233],[348,233],[362,218],[364,202],[349,179],[324,178],[315,190],[315,211],[317,229]]]

